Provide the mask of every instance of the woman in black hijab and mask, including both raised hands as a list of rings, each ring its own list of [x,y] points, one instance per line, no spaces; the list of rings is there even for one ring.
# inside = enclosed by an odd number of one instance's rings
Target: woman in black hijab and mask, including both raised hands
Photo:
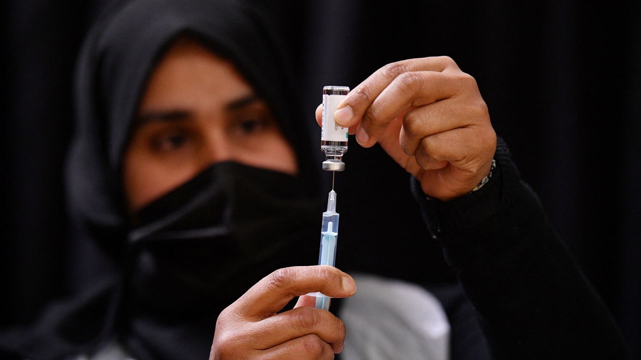
[[[14,348],[140,360],[342,350],[344,324],[310,297],[279,313],[306,293],[356,291],[336,268],[290,267],[315,263],[301,239],[317,237],[323,194],[310,125],[281,96],[294,87],[280,48],[260,8],[238,1],[136,0],[97,22],[67,168],[74,296]],[[622,353],[453,60],[390,64],[339,107],[361,145],[380,143],[412,174],[495,359]]]

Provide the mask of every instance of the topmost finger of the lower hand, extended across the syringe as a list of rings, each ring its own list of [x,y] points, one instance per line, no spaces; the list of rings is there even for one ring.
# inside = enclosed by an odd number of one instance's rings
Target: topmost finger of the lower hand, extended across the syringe
[[[231,305],[231,311],[246,318],[265,318],[278,312],[294,297],[316,291],[329,297],[349,297],[356,292],[356,283],[333,266],[281,268],[247,290]]]

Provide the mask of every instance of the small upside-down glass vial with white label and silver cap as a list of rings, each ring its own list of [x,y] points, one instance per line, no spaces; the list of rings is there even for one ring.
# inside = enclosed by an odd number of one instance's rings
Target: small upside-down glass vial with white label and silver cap
[[[334,122],[334,112],[338,102],[349,93],[347,86],[324,86],[322,88],[322,126],[320,130],[320,150],[325,153],[322,169],[343,171],[343,155],[347,152],[347,127]]]

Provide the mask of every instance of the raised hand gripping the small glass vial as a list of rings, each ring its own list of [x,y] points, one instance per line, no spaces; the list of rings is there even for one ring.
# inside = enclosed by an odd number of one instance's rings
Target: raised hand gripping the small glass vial
[[[381,67],[338,104],[334,120],[363,147],[378,142],[440,200],[469,193],[490,172],[496,149],[476,80],[447,56]]]

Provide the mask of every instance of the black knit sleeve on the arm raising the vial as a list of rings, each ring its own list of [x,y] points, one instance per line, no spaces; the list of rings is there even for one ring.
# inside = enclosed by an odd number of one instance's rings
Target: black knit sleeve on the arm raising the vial
[[[494,158],[483,188],[447,202],[426,199],[412,179],[426,225],[476,308],[493,356],[624,359],[608,310],[500,139]]]

